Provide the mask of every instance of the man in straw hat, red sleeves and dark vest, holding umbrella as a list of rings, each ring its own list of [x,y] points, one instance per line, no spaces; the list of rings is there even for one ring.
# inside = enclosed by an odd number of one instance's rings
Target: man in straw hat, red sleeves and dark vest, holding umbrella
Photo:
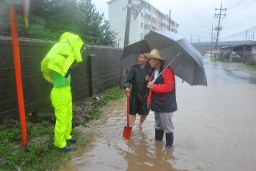
[[[162,58],[160,50],[154,49],[150,54],[145,55],[150,58],[150,66],[154,69],[151,82],[148,82],[147,85],[150,89],[147,102],[151,110],[154,111],[155,140],[162,141],[165,133],[166,148],[171,148],[174,142],[172,116],[177,110],[174,70],[169,66],[166,68],[166,59]],[[164,71],[162,72],[162,70]]]

